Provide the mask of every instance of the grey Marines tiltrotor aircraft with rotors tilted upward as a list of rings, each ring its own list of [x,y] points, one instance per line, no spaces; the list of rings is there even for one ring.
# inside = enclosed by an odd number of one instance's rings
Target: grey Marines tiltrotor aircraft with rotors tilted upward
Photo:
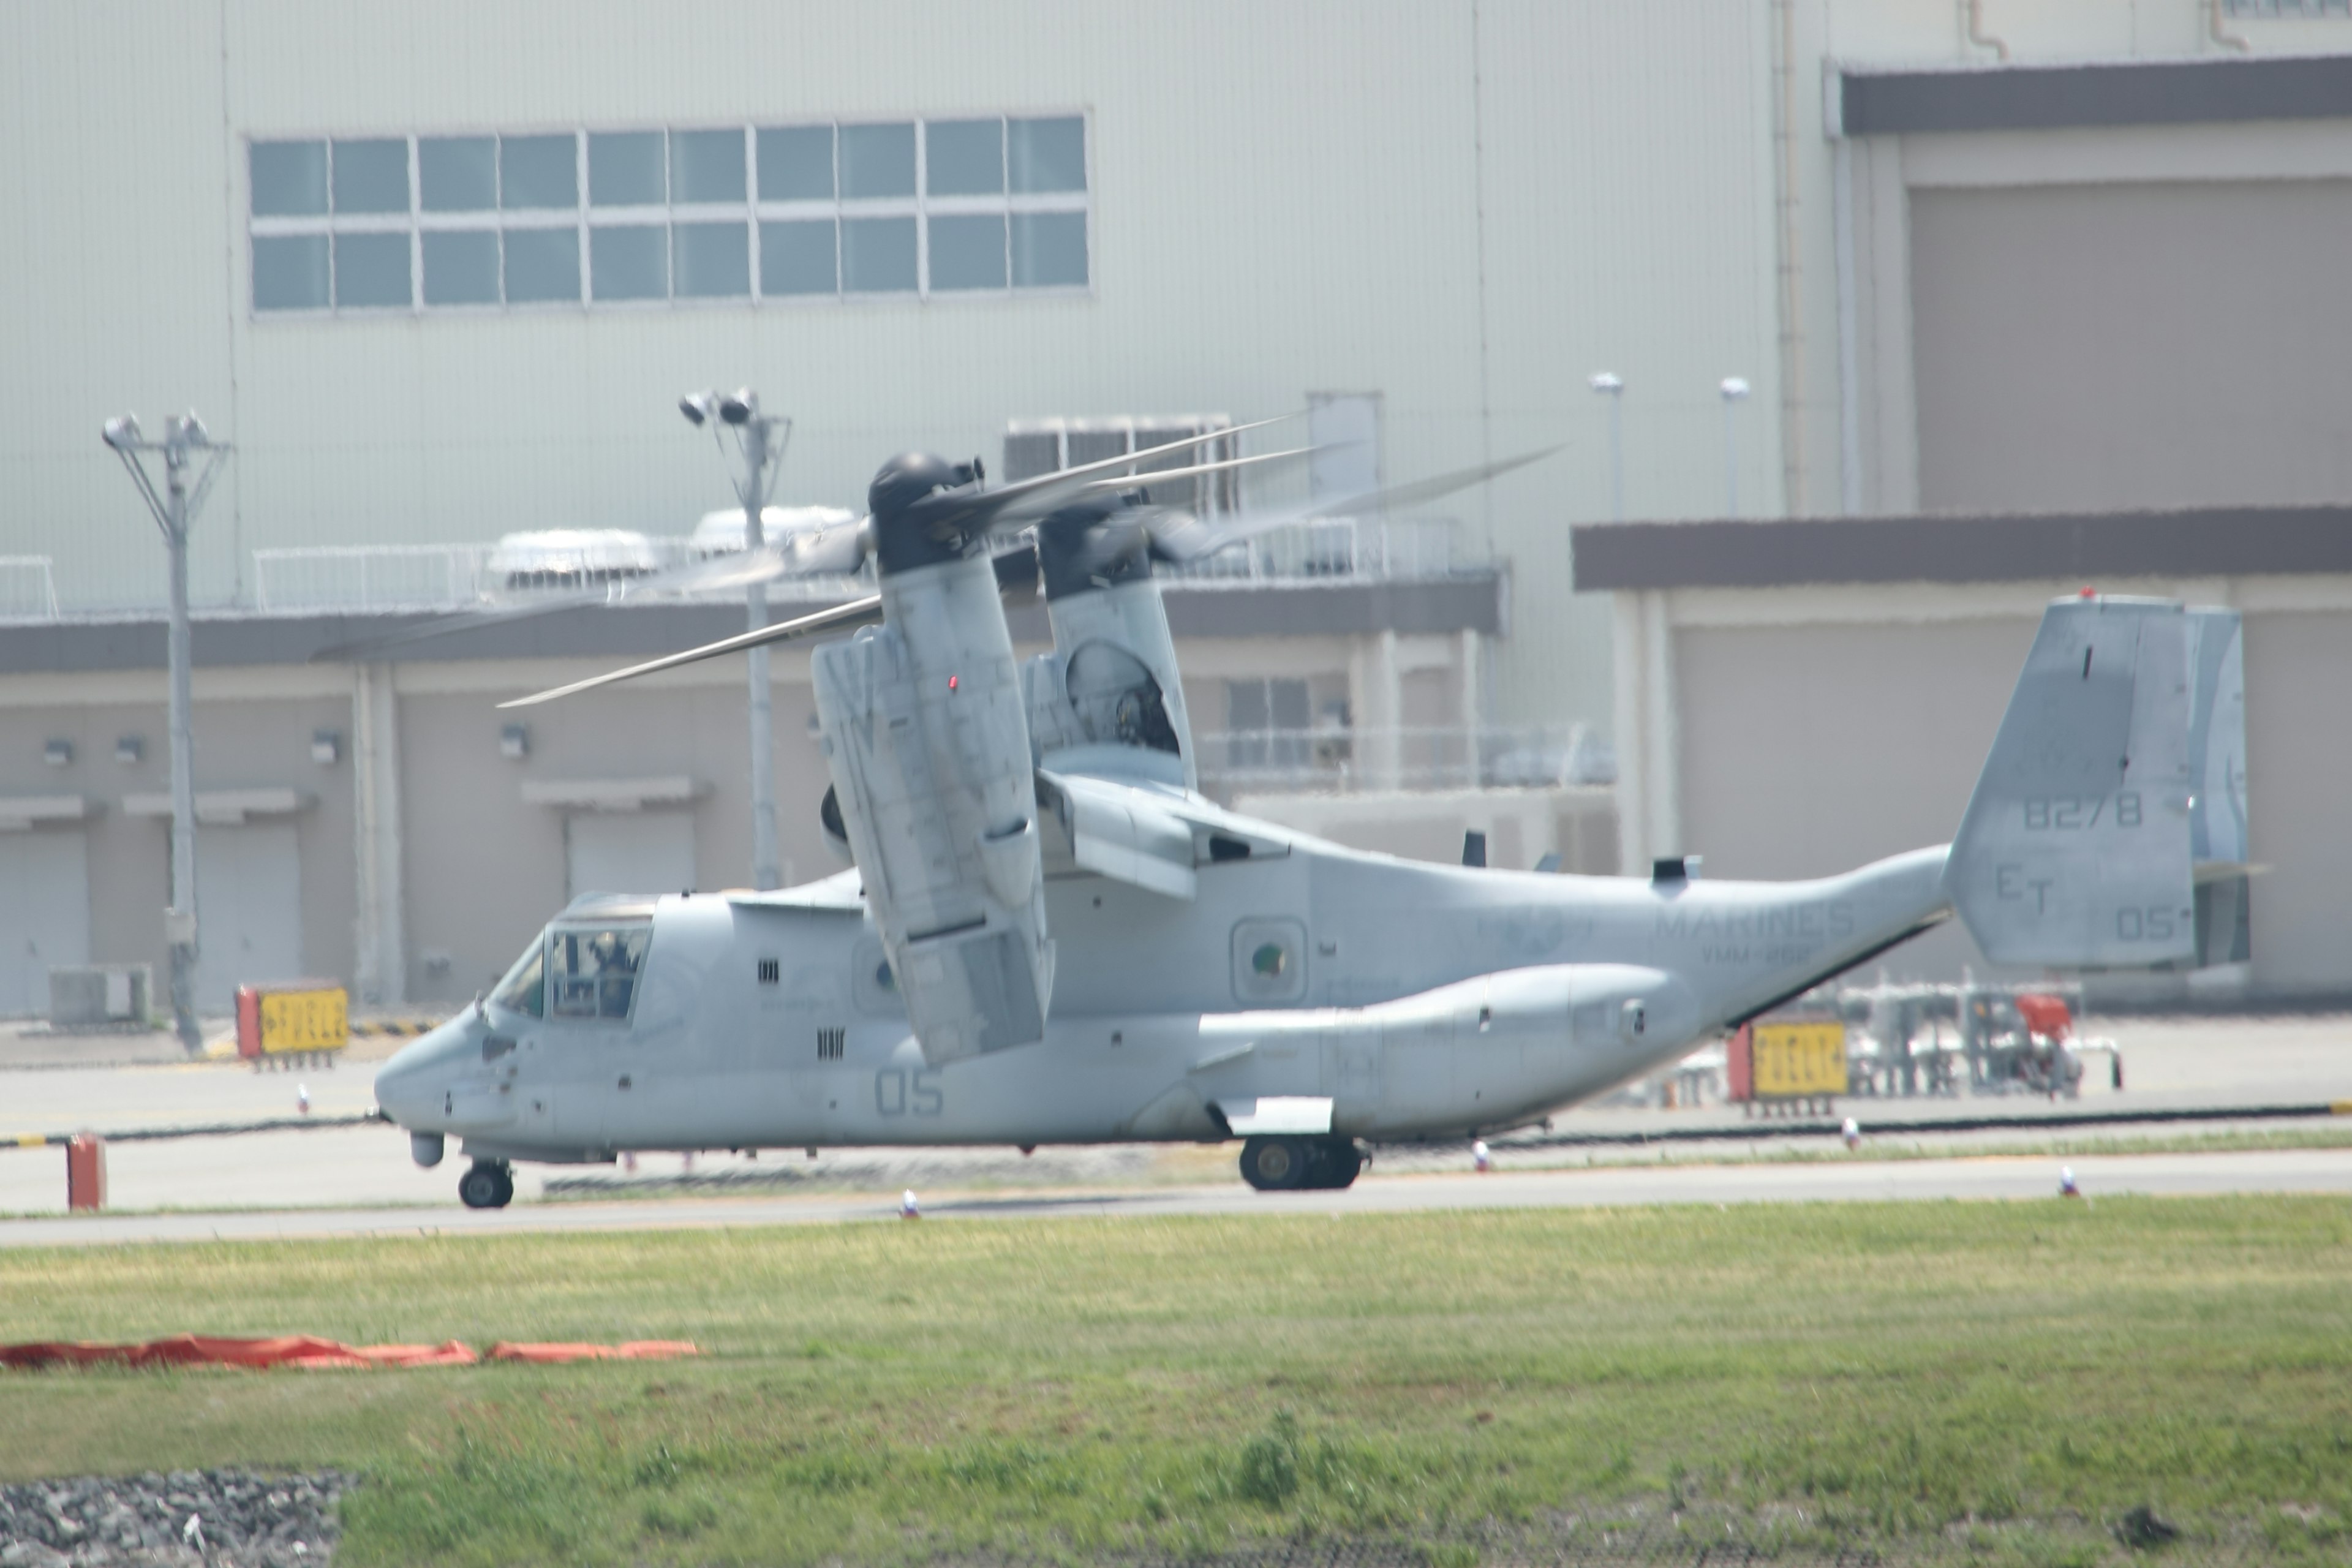
[[[997,489],[896,456],[861,527],[875,595],[520,698],[866,623],[814,651],[854,867],[576,898],[379,1074],[414,1157],[456,1135],[470,1206],[517,1159],[826,1145],[1240,1138],[1254,1187],[1345,1187],[1362,1140],[1531,1124],[1955,912],[1999,964],[2227,940],[2230,611],[2051,604],[1950,846],[1780,884],[1411,863],[1197,792],[1152,562],[1232,534],[1152,508],[1148,456]],[[1018,663],[1002,595],[1040,578],[1054,649]]]

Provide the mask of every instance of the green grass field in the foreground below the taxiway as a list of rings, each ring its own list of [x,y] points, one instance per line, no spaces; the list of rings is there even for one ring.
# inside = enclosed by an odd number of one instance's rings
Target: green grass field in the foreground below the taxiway
[[[348,1563],[1465,1566],[1559,1512],[2343,1561],[2352,1201],[922,1222],[0,1255],[0,1340],[691,1338],[682,1363],[0,1373],[0,1479],[367,1476]],[[1501,1535],[1496,1535],[1501,1530]],[[1484,1535],[1482,1535],[1484,1533]]]

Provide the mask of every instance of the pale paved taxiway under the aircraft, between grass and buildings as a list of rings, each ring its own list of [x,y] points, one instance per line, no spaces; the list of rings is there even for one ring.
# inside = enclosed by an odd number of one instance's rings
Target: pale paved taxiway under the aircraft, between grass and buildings
[[[2032,1121],[2051,1112],[2164,1110],[2183,1105],[2263,1105],[2328,1103],[2352,1095],[2352,1018],[2119,1018],[2086,1020],[2089,1032],[2114,1034],[2124,1044],[2126,1091],[2112,1091],[2093,1063],[2079,1100],[2032,1098],[1919,1098],[1919,1100],[1839,1100],[1837,1114],[1853,1114],[1870,1140],[1922,1143],[1931,1152],[1966,1154],[1971,1147],[2016,1145],[2037,1133]],[[771,1152],[760,1164],[727,1157],[703,1157],[699,1175],[734,1173],[774,1180],[788,1164],[795,1180],[816,1178],[823,1192],[767,1192],[753,1197],[666,1194],[661,1204],[600,1201],[597,1190],[574,1192],[586,1201],[562,1204],[560,1215],[539,1215],[539,1197],[548,1182],[607,1180],[628,1185],[612,1166],[517,1166],[517,1204],[503,1215],[473,1215],[456,1206],[461,1159],[433,1171],[409,1161],[407,1138],[390,1126],[341,1126],[315,1131],[280,1131],[235,1138],[191,1138],[162,1143],[108,1145],[108,1201],[118,1211],[202,1211],[195,1213],[111,1213],[101,1218],[64,1218],[66,1157],[56,1147],[12,1147],[12,1135],[54,1135],[78,1128],[108,1133],[216,1121],[263,1121],[299,1117],[296,1095],[308,1091],[310,1117],[358,1117],[372,1103],[374,1067],[402,1041],[362,1041],[332,1070],[254,1072],[242,1063],[176,1060],[176,1046],[162,1037],[38,1037],[0,1034],[0,1220],[7,1241],[66,1239],[80,1234],[66,1227],[94,1227],[92,1237],[136,1234],[294,1234],[273,1227],[325,1225],[329,1232],[372,1232],[430,1227],[501,1227],[501,1225],[701,1225],[701,1222],[776,1222],[783,1218],[842,1220],[884,1211],[901,1187],[917,1187],[950,1204],[938,1213],[1211,1213],[1218,1204],[1237,1213],[1263,1213],[1282,1204],[1348,1206],[1454,1206],[1454,1204],[1590,1204],[1590,1201],[1745,1201],[1752,1197],[1837,1199],[1837,1197],[2034,1197],[2056,1190],[2056,1161],[1929,1159],[1837,1166],[1757,1168],[1637,1168],[1531,1173],[1526,1166],[1573,1161],[1559,1150],[1517,1150],[1512,1140],[1494,1140],[1503,1166],[1496,1175],[1465,1187],[1423,1178],[1465,1173],[1470,1152],[1461,1145],[1428,1150],[1385,1150],[1374,1175],[1357,1192],[1322,1199],[1268,1199],[1240,1185],[1232,1175],[1232,1147],[1200,1150],[1190,1145],[1037,1150],[1023,1159],[1011,1150],[828,1150],[816,1164],[797,1152],[786,1161]],[[1903,1133],[1907,1119],[1952,1114],[2016,1114],[2016,1124],[1987,1133],[1922,1140]],[[1738,1107],[1708,1105],[1696,1110],[1578,1107],[1555,1119],[1557,1133],[1675,1133],[1705,1126],[1740,1126]],[[2338,1119],[2343,1124],[2343,1119]],[[2265,1124],[2263,1131],[2281,1131]],[[1759,1128],[1762,1131],[1762,1128]],[[2117,1135],[2216,1131],[2117,1128]],[[2065,1131],[2065,1138],[2096,1133]],[[1818,1147],[1832,1140],[1717,1143],[1679,1145],[1682,1159],[1745,1159],[1764,1150]],[[1867,1143],[1865,1143],[1867,1147]],[[1623,1159],[1623,1150],[1609,1152]],[[2117,1157],[2126,1159],[2126,1157]],[[2220,1157],[2194,1157],[2176,1175],[2173,1166],[2150,1164],[2176,1157],[2129,1157],[2129,1180],[2173,1182],[2147,1190],[2197,1190],[2187,1171],[2213,1171],[2213,1180],[2253,1182],[2246,1190],[2336,1190],[2336,1171],[2352,1166],[2352,1152],[2310,1152],[2258,1157],[2244,1168]],[[2234,1159],[2234,1157],[2232,1157]],[[2267,1161],[2267,1164],[2265,1164]],[[2074,1161],[2079,1171],[2091,1159]],[[1517,1166],[1517,1168],[1515,1168]],[[640,1161],[637,1185],[659,1190],[684,1171],[677,1154],[649,1154]],[[1936,1175],[1940,1173],[1940,1175]],[[2237,1175],[2232,1175],[2237,1173]],[[1406,1180],[1411,1175],[1411,1180]],[[1371,1197],[1388,1194],[1388,1197]],[[1454,1197],[1409,1197],[1454,1194]],[[1597,1194],[1597,1197],[1595,1197]],[[877,1208],[880,1206],[880,1208]],[[1000,1208],[990,1208],[1000,1206]],[[1009,1206],[1009,1208],[1004,1208]],[[1174,1206],[1174,1208],[1169,1208]],[[256,1215],[238,1211],[320,1211]],[[332,1211],[332,1213],[329,1213]],[[59,1215],[54,1220],[38,1215]],[[741,1215],[741,1218],[739,1218]],[[151,1227],[151,1229],[141,1229]],[[259,1227],[259,1229],[252,1229]],[[313,1234],[301,1229],[301,1234]]]

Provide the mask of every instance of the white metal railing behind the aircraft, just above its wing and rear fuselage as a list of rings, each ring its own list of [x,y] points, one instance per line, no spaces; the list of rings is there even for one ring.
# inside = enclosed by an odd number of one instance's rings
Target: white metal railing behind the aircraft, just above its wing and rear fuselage
[[[1228,729],[1197,736],[1195,755],[1200,788],[1218,797],[1616,780],[1616,757],[1583,724]]]

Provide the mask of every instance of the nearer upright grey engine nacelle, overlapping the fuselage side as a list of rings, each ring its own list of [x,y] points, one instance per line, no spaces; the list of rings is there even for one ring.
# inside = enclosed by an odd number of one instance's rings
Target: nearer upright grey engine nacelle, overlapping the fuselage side
[[[882,574],[884,625],[811,661],[826,766],[934,1065],[1044,1039],[1037,780],[985,555]]]

